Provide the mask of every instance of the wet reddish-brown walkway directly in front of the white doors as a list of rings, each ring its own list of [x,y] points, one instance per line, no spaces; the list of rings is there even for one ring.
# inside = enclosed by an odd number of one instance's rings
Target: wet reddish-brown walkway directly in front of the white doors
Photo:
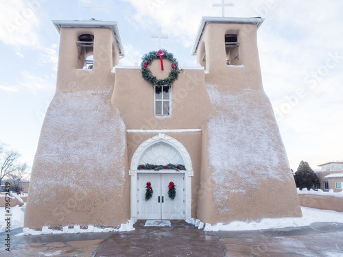
[[[113,234],[97,251],[97,257],[211,256],[224,257],[224,245],[213,232],[198,230],[185,221],[171,221],[171,227],[143,227]]]

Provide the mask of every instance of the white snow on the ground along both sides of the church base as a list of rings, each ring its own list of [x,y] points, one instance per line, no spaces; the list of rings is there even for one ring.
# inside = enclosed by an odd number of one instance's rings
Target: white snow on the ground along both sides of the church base
[[[314,208],[301,207],[303,217],[300,218],[276,218],[276,219],[261,219],[260,221],[233,221],[224,225],[217,223],[215,225],[206,224],[206,231],[244,231],[244,230],[266,230],[272,228],[289,228],[311,225],[316,222],[337,222],[343,223],[343,212],[335,212],[333,210],[319,210]],[[19,206],[11,208],[12,224],[11,230],[14,228],[23,227],[24,213]],[[5,207],[0,207],[0,217],[5,217]],[[0,232],[4,232],[6,227],[5,219],[0,220]],[[63,233],[91,233],[91,232],[115,232],[129,231],[132,228],[132,223],[122,224],[121,228],[96,228],[92,225],[88,229],[82,230],[80,226],[75,228],[64,228],[63,230],[50,230],[47,227],[43,231],[24,229],[24,234],[63,234]],[[23,235],[23,234],[21,234]]]

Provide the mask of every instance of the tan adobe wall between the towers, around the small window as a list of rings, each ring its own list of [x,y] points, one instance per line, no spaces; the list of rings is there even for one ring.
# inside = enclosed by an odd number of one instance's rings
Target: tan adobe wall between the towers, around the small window
[[[163,62],[163,72],[160,60],[152,62],[153,75],[169,75],[169,61]],[[128,130],[200,129],[212,110],[203,69],[182,69],[171,84],[171,117],[155,117],[154,85],[143,79],[140,68],[116,67],[111,101],[120,110]]]

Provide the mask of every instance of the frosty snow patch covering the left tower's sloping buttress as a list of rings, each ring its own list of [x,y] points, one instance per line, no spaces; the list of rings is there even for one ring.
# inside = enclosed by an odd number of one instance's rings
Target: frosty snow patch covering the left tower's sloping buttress
[[[110,103],[112,91],[55,95],[36,152],[34,201],[55,198],[51,188],[70,187],[75,192],[123,188],[126,126]],[[117,194],[122,197],[121,191]]]

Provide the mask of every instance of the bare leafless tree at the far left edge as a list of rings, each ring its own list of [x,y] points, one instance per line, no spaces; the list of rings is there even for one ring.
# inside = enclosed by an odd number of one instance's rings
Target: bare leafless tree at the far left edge
[[[0,184],[3,178],[10,173],[16,171],[18,169],[18,164],[16,161],[20,157],[19,152],[14,150],[4,151],[3,145],[0,145]]]

